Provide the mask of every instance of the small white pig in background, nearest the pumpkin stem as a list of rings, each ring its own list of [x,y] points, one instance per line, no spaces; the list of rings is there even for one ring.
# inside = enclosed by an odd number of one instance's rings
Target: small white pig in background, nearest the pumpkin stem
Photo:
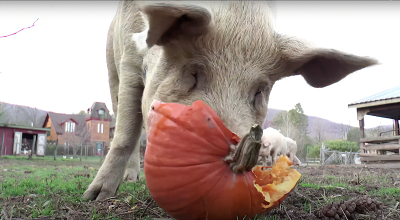
[[[262,131],[261,148],[259,150],[259,155],[261,157],[270,157],[272,164],[274,164],[277,155],[285,155],[286,151],[286,139],[283,134],[280,133],[280,130],[268,127]]]

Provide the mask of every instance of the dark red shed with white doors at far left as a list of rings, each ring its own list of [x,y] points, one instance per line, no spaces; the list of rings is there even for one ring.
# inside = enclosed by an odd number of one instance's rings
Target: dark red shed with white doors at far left
[[[44,156],[46,133],[49,131],[49,128],[0,123],[1,154],[19,155],[24,150],[21,146],[27,143],[32,147],[33,154]]]

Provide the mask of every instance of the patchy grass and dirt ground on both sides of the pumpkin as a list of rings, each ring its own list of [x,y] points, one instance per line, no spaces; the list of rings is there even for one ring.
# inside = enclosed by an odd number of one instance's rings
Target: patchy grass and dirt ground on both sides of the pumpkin
[[[62,158],[3,156],[3,218],[169,218],[152,200],[143,173],[135,183],[123,182],[117,195],[99,202],[82,202],[81,195],[101,165],[98,156]],[[296,168],[302,177],[283,203],[257,219],[315,218],[334,202],[372,198],[382,202],[375,211],[353,211],[363,219],[400,219],[400,176],[397,169],[354,166],[309,166]],[[373,203],[372,202],[372,203]],[[376,203],[379,204],[379,203]],[[358,207],[358,206],[357,206]],[[367,207],[369,208],[369,206]],[[344,218],[345,219],[345,218]],[[351,219],[349,216],[348,219]]]

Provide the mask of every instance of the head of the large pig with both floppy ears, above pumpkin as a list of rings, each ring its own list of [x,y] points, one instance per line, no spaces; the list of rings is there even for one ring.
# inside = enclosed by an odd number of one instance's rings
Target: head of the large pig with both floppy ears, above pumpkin
[[[268,10],[253,3],[230,2],[212,11],[152,4],[142,11],[148,29],[136,38],[147,46],[144,119],[153,99],[185,105],[201,99],[242,137],[265,118],[276,80],[301,74],[311,86],[324,87],[376,63],[276,33]]]

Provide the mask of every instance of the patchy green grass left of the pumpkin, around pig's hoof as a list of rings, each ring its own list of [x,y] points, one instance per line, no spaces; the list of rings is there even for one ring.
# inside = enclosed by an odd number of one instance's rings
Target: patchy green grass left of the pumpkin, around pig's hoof
[[[1,218],[57,218],[74,214],[91,219],[167,216],[162,209],[153,207],[154,202],[149,205],[152,197],[144,173],[140,173],[137,182],[122,182],[118,196],[112,200],[82,202],[83,192],[101,165],[97,156],[88,156],[82,161],[62,157],[54,161],[52,156],[33,157],[32,160],[27,160],[26,156],[4,156],[1,162],[1,192],[5,201],[1,210],[5,208],[7,213]],[[113,211],[108,209],[110,206],[118,208]]]

